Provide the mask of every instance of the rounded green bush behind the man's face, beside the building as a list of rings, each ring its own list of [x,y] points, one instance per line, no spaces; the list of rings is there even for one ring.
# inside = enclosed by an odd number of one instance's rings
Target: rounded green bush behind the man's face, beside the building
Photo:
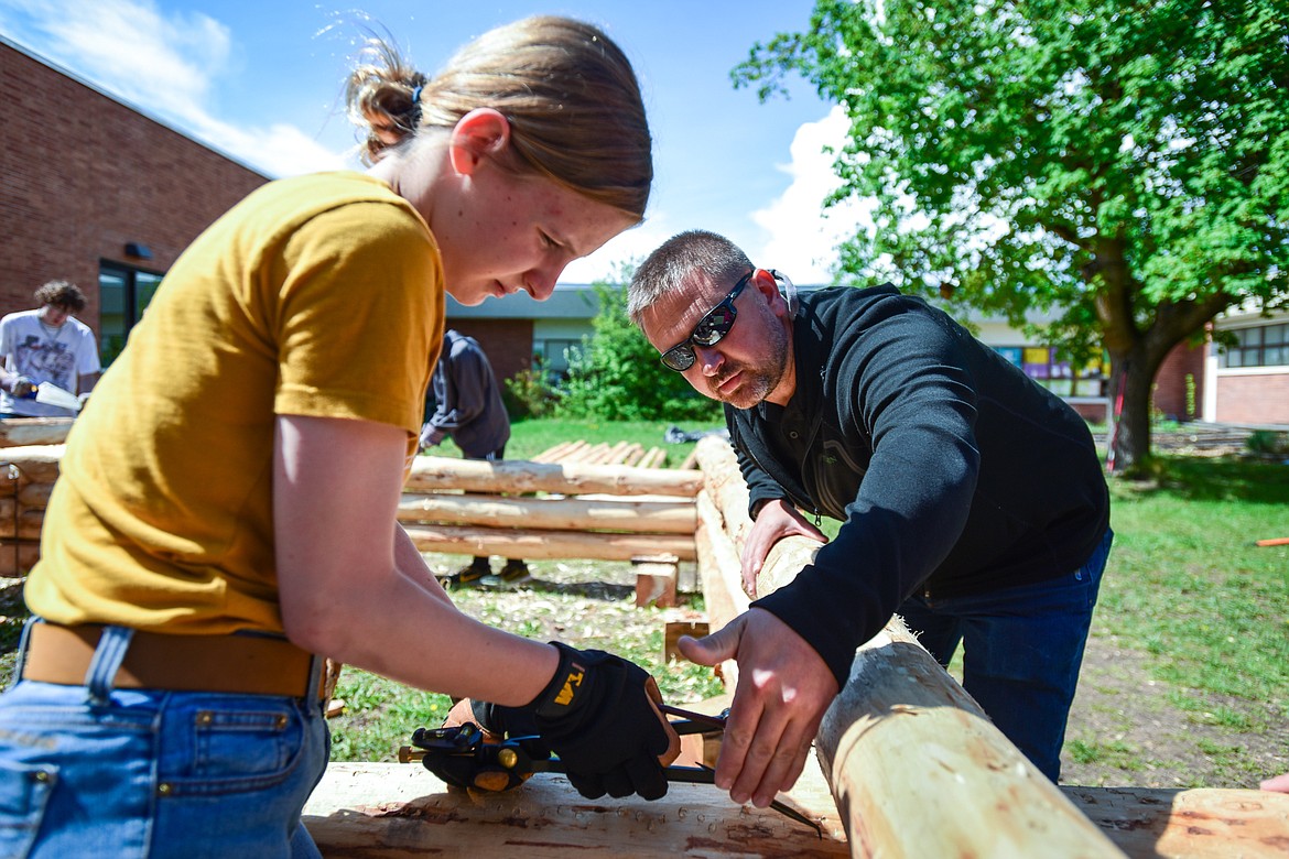
[[[559,389],[557,412],[563,417],[601,420],[721,420],[715,401],[695,392],[668,370],[657,350],[626,316],[629,276],[619,283],[596,282],[599,310],[594,334],[570,355],[568,376]]]

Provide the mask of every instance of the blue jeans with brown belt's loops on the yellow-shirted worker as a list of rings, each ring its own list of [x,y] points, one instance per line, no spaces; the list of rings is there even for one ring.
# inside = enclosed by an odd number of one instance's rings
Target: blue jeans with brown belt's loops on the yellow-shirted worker
[[[318,856],[300,811],[326,769],[321,702],[113,689],[122,634],[84,686],[0,695],[0,856]]]

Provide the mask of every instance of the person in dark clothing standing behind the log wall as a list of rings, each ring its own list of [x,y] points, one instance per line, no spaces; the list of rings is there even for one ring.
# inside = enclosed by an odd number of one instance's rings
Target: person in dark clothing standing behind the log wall
[[[510,440],[510,416],[478,341],[449,328],[431,384],[436,406],[420,430],[420,448],[436,447],[451,435],[467,460],[500,460]],[[507,559],[500,574],[492,576],[489,559],[476,556],[446,578],[450,585],[496,587],[521,585],[531,576],[518,558]]]

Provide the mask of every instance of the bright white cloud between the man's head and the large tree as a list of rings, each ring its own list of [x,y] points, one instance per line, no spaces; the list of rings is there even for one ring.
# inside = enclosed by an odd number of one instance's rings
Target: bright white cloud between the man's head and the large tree
[[[768,238],[759,247],[748,247],[755,260],[782,270],[797,283],[828,283],[837,265],[837,246],[858,228],[871,228],[871,203],[846,201],[824,210],[824,200],[840,179],[833,173],[834,156],[825,147],[839,149],[849,124],[840,107],[834,107],[819,122],[806,122],[797,130],[790,147],[791,162],[779,169],[793,178],[791,185],[753,220]]]

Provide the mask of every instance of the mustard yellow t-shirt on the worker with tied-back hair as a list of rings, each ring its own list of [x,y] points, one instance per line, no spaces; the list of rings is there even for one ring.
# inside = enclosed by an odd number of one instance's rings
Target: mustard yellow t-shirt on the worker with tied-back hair
[[[31,610],[281,631],[276,416],[393,424],[411,457],[442,336],[438,247],[388,185],[331,173],[251,193],[175,261],[77,419]]]

